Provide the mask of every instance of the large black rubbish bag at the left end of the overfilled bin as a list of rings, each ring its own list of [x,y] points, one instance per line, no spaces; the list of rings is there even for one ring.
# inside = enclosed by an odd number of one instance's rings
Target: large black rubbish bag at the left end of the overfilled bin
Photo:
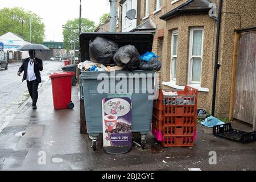
[[[93,63],[109,64],[112,62],[115,52],[118,50],[117,43],[101,37],[89,42],[89,55]]]

